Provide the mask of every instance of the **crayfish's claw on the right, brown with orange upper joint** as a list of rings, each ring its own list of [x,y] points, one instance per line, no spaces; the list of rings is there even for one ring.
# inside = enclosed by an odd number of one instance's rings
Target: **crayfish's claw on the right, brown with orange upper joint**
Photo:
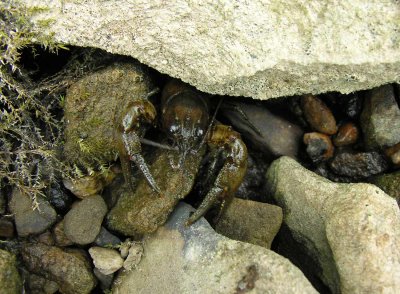
[[[233,197],[247,171],[247,148],[240,135],[225,125],[216,125],[208,139],[211,149],[223,148],[225,162],[217,178],[197,210],[189,217],[191,225],[202,217],[218,200],[226,202]]]

